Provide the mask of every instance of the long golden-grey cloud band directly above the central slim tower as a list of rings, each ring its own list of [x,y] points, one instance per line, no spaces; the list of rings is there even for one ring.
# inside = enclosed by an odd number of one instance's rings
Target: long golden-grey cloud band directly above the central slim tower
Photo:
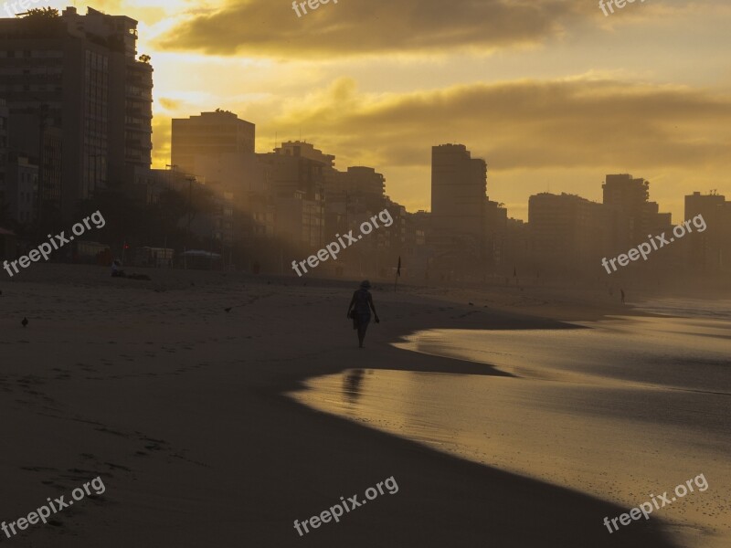
[[[343,78],[263,127],[303,128],[327,153],[381,167],[424,165],[432,145],[462,142],[497,170],[727,169],[729,122],[727,96],[679,86],[530,79],[362,94]]]

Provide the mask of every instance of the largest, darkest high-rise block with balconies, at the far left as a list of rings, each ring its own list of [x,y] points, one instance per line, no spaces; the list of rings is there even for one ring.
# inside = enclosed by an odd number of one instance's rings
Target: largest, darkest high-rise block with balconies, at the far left
[[[42,216],[60,207],[70,218],[80,199],[123,183],[130,166],[149,168],[153,68],[136,58],[136,42],[137,21],[92,8],[85,16],[68,7],[58,17],[0,19],[0,97],[11,148],[40,165],[39,194],[49,201],[38,204]],[[43,158],[54,128],[59,177]]]

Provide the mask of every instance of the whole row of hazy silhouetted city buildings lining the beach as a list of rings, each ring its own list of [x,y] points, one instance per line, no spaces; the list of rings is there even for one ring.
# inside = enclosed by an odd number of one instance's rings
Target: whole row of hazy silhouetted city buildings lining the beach
[[[173,118],[170,157],[164,167],[154,166],[156,71],[139,47],[138,21],[92,8],[87,15],[76,7],[60,14],[36,12],[2,19],[0,96],[5,95],[6,105],[0,105],[0,127],[7,128],[7,137],[0,144],[6,142],[7,152],[0,158],[7,158],[7,176],[0,202],[6,222],[21,235],[34,221],[50,226],[69,220],[85,202],[111,213],[111,200],[120,219],[112,220],[114,229],[103,236],[111,238],[112,247],[131,241],[141,250],[135,253],[146,257],[144,249],[154,243],[164,246],[166,257],[168,243],[186,249],[195,237],[210,253],[216,248],[220,259],[228,248],[231,261],[236,249],[239,264],[257,270],[279,265],[281,270],[285,248],[295,255],[322,248],[327,237],[349,233],[368,216],[393,207],[397,228],[359,248],[355,262],[329,266],[329,275],[343,275],[346,269],[362,273],[367,252],[375,258],[372,276],[385,276],[383,266],[403,257],[409,276],[449,281],[457,271],[484,280],[484,269],[493,274],[512,269],[515,276],[518,268],[534,270],[536,276],[544,270],[551,276],[591,277],[601,256],[672,228],[665,205],[661,210],[658,201],[650,201],[645,174],[617,172],[603,174],[601,201],[595,196],[599,184],[583,184],[573,192],[565,186],[554,188],[556,194],[531,192],[524,223],[488,180],[492,163],[473,154],[473,142],[456,141],[431,145],[429,204],[409,213],[408,203],[394,199],[398,181],[389,180],[387,192],[387,175],[376,169],[386,170],[378,163],[344,170],[333,151],[302,137],[282,139],[281,146],[277,140],[270,152],[258,152],[267,147],[256,142],[256,119],[220,108]],[[539,105],[536,112],[541,110]],[[78,128],[84,128],[83,135]],[[39,141],[44,143],[40,152]],[[699,204],[714,202],[713,189],[702,195],[691,188],[702,196]],[[119,192],[132,203],[123,206]],[[689,196],[683,195],[686,204]],[[719,196],[723,202],[708,211],[715,236],[699,240],[694,251],[697,264],[714,270],[726,267],[728,252],[727,236],[722,236],[728,233],[728,208]],[[179,208],[184,204],[185,211]],[[173,213],[167,221],[164,211]],[[139,222],[130,228],[126,217]],[[270,238],[281,245],[278,254]],[[667,257],[680,265],[683,256],[690,256],[684,247]],[[581,269],[573,266],[577,260]]]

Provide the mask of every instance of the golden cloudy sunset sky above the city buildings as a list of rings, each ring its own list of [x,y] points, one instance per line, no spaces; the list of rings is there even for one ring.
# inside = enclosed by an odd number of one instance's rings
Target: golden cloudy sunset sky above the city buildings
[[[156,167],[172,118],[220,108],[256,124],[257,152],[302,139],[340,170],[376,168],[409,211],[430,209],[431,147],[447,142],[486,160],[488,195],[524,220],[539,192],[601,201],[605,174],[650,181],[674,223],[684,195],[731,199],[731,3],[606,4],[75,3],[140,22]]]

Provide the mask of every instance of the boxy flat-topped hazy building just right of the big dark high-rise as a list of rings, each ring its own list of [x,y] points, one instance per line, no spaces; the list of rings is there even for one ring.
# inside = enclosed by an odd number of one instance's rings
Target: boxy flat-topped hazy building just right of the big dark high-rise
[[[254,153],[256,126],[228,111],[201,112],[199,116],[175,118],[172,163],[178,169],[201,176],[196,158]]]

